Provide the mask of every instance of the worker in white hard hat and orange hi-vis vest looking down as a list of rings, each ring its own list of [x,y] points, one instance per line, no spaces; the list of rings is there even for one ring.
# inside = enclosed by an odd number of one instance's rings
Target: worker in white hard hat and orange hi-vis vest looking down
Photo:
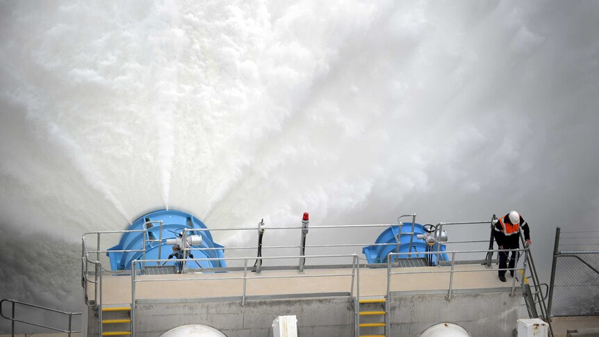
[[[499,249],[519,249],[520,248],[520,229],[524,231],[524,239],[527,244],[531,244],[528,224],[516,211],[511,211],[500,217],[493,226],[493,236]],[[510,252],[499,252],[499,279],[505,282],[505,271],[508,268],[507,258]],[[509,259],[509,274],[514,277],[514,267],[516,265],[517,250],[511,251]]]

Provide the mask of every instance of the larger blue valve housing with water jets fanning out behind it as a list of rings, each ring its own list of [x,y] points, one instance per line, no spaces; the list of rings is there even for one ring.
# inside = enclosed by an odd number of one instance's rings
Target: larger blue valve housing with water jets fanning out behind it
[[[162,221],[162,240],[160,233],[159,223]],[[145,224],[145,226],[144,226]],[[112,270],[125,270],[131,269],[131,262],[133,260],[141,260],[142,252],[110,252],[110,251],[121,251],[121,250],[141,250],[144,246],[145,236],[145,259],[167,259],[171,257],[183,258],[181,252],[177,252],[177,249],[173,249],[174,245],[167,244],[167,240],[172,243],[174,240],[181,236],[183,229],[206,229],[206,225],[200,221],[197,217],[184,213],[181,211],[155,211],[144,215],[138,220],[134,221],[127,230],[140,230],[147,229],[144,231],[126,232],[123,233],[121,240],[118,245],[108,249],[108,257],[110,258],[110,267]],[[191,248],[221,248],[212,250],[189,250],[188,254],[192,254],[195,258],[224,258],[224,249],[221,245],[213,242],[210,231],[187,231],[188,236],[201,236],[202,243],[200,245],[192,244]],[[197,237],[195,237],[197,238]],[[158,247],[161,246],[161,249]],[[161,251],[161,256],[158,256],[158,251]],[[191,256],[189,256],[191,257]],[[155,262],[146,263],[146,265],[155,265]],[[180,263],[174,261],[167,261],[165,265],[176,265],[181,268]],[[186,268],[219,268],[226,267],[227,264],[224,260],[213,260],[213,261],[187,261]]]

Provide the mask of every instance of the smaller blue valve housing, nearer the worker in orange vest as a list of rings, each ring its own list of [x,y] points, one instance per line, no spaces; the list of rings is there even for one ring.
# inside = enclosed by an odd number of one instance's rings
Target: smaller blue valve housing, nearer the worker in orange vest
[[[400,233],[401,228],[401,235]],[[424,239],[417,238],[418,234],[427,233],[424,229],[422,229],[422,224],[414,224],[414,233],[410,234],[412,228],[410,224],[403,224],[402,226],[395,225],[391,226],[388,229],[385,229],[381,235],[377,238],[375,243],[381,244],[393,244],[393,245],[372,245],[366,246],[362,248],[362,252],[366,255],[366,259],[368,263],[387,263],[387,254],[389,253],[408,253],[410,251],[410,236],[413,236],[412,239],[412,252],[427,252],[427,247],[432,250],[432,252],[436,252],[437,244],[435,245],[427,245]],[[399,238],[399,240],[398,240]],[[440,245],[439,260],[441,261],[449,261],[448,255],[443,253],[445,252],[445,245]],[[436,255],[437,254],[413,254],[413,255],[399,255],[399,258],[429,258],[429,255],[432,255],[432,262],[430,265],[436,265]]]

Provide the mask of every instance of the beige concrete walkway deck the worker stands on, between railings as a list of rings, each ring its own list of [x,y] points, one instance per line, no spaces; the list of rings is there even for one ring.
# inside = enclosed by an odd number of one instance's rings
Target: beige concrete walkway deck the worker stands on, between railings
[[[501,282],[497,271],[484,265],[456,265],[454,289],[484,289],[511,287]],[[476,271],[481,270],[481,271]],[[450,267],[395,268],[391,277],[391,291],[448,290]],[[263,271],[247,273],[246,295],[286,295],[309,293],[338,293],[351,290],[352,269]],[[508,274],[509,276],[509,274]],[[224,279],[227,278],[227,279]],[[193,273],[144,275],[136,278],[136,299],[179,299],[205,297],[231,297],[243,294],[243,272]],[[355,279],[357,283],[357,277]],[[131,303],[131,277],[103,276],[104,304]],[[516,286],[519,286],[516,282]],[[360,268],[360,295],[381,296],[386,294],[386,268]],[[354,284],[354,293],[356,292]],[[93,288],[88,289],[90,299]]]

